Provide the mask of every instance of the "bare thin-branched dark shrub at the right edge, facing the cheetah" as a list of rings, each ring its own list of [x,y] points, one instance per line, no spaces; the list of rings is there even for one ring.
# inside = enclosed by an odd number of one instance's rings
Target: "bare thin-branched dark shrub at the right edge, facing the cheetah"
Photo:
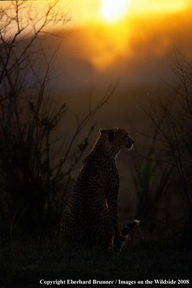
[[[144,147],[148,150],[148,153],[145,153],[146,163],[151,163],[150,156],[153,155],[154,164],[152,171],[151,169],[141,171],[140,168],[140,175],[142,173],[145,179],[148,176],[152,177],[150,179],[154,177],[160,179],[152,190],[147,187],[147,193],[151,192],[145,194],[150,197],[153,192],[159,199],[163,189],[164,192],[171,189],[172,193],[176,191],[181,193],[189,229],[192,220],[192,62],[181,55],[175,47],[175,57],[170,59],[169,65],[178,78],[175,81],[176,86],[166,83],[173,92],[169,95],[149,96],[151,110],[142,107],[150,118],[154,131],[146,135],[152,141],[150,147],[147,148],[146,145]],[[142,156],[144,157],[144,154]],[[175,191],[170,188],[170,184]],[[142,187],[144,189],[144,185]],[[150,197],[147,197],[148,200]],[[147,201],[145,206],[146,203]],[[154,200],[151,207],[154,203],[157,204]]]

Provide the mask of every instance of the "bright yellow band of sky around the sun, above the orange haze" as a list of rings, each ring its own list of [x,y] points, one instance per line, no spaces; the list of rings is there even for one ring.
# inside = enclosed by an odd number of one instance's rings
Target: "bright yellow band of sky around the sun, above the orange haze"
[[[59,5],[70,11],[78,25],[114,22],[133,15],[173,14],[191,7],[189,0],[60,0]]]

